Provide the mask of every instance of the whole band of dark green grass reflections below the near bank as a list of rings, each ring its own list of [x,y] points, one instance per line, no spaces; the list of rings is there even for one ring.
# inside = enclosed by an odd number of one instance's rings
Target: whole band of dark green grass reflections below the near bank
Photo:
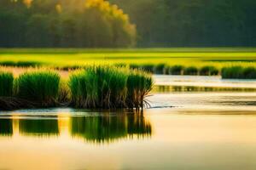
[[[152,127],[141,114],[56,116],[0,116],[0,135],[51,138],[68,136],[89,143],[111,143],[118,139],[150,137]]]

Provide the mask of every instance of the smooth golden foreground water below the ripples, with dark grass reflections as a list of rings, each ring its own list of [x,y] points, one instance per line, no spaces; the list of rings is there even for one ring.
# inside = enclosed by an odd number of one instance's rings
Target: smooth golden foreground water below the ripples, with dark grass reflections
[[[256,166],[254,115],[183,115],[175,109],[153,109],[144,116],[5,116],[0,117],[0,132],[0,169]]]

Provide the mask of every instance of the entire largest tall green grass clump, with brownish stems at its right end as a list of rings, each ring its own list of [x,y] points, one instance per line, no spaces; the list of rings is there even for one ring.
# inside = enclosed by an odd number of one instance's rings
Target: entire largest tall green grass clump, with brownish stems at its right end
[[[69,80],[73,105],[79,108],[143,108],[152,79],[142,71],[91,66]]]

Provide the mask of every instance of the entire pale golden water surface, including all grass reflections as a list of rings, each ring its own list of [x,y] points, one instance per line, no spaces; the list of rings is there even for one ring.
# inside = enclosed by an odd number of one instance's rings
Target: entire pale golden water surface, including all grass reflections
[[[0,169],[255,169],[255,82],[154,78],[143,114],[1,111]]]

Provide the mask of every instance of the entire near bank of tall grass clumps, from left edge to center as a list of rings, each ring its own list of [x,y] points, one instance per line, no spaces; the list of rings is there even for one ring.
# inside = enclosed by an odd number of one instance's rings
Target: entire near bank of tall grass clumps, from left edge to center
[[[152,89],[153,81],[143,71],[130,71],[109,65],[88,66],[73,71],[69,80],[61,79],[55,71],[34,69],[25,71],[8,86],[6,79],[0,90],[0,107],[3,110],[51,106],[74,106],[77,108],[129,108],[143,109]],[[6,77],[6,76],[5,76]],[[9,80],[9,79],[8,79]],[[12,90],[15,89],[15,93]],[[9,97],[9,98],[7,98]]]

